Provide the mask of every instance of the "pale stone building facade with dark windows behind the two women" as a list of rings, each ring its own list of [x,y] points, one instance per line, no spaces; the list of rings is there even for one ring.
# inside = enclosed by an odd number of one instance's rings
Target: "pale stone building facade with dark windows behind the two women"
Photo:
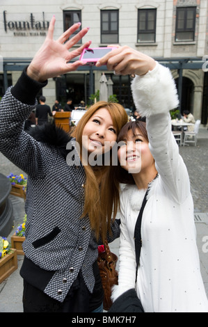
[[[128,45],[170,67],[179,88],[180,110],[188,109],[207,123],[208,78],[207,0],[1,0],[0,10],[0,97],[15,83],[22,67],[33,58],[45,40],[47,27],[56,16],[54,38],[73,22],[89,26],[93,47]],[[133,109],[130,77],[118,77],[102,67],[82,67],[77,72],[49,80],[43,95],[52,106],[89,101],[99,90],[102,72],[113,81],[113,94]]]

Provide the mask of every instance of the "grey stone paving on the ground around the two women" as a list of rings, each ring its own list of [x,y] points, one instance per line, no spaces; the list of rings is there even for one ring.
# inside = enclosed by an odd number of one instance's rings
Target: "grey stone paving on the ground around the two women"
[[[193,195],[197,244],[200,255],[202,278],[208,296],[208,130],[201,127],[198,135],[198,145],[179,147],[186,167],[189,171],[191,192]],[[23,173],[0,152],[0,173]],[[24,173],[23,173],[24,174]],[[14,233],[24,216],[24,200],[10,196],[14,209],[14,228],[8,239]],[[111,244],[111,250],[118,255],[119,239]],[[0,284],[0,312],[23,312],[22,309],[22,278],[19,269],[22,266],[23,256],[18,255],[18,269]]]

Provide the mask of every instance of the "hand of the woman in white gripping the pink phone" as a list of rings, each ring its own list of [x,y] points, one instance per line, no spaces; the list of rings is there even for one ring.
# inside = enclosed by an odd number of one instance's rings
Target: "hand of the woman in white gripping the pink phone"
[[[115,45],[109,47],[115,47]],[[120,75],[144,75],[154,69],[156,62],[150,56],[131,49],[127,45],[116,47],[117,49],[100,58],[96,66],[106,65],[108,70],[114,70],[115,74]]]

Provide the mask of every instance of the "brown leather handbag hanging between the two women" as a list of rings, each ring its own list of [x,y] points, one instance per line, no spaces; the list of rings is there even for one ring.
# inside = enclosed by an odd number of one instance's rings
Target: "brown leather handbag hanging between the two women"
[[[99,266],[99,273],[102,279],[102,287],[104,289],[104,310],[109,310],[112,305],[111,301],[111,287],[118,285],[118,271],[115,270],[117,255],[112,253],[108,241],[104,243],[104,252],[99,252],[97,264]]]

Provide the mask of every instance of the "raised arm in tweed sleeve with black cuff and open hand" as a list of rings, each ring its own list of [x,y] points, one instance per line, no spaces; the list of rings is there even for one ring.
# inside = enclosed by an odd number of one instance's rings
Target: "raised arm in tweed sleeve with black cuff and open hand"
[[[65,31],[58,40],[54,40],[55,17],[51,19],[47,38],[35,54],[29,67],[24,69],[14,87],[8,88],[0,102],[0,151],[28,174],[44,173],[44,165],[48,165],[47,155],[42,156],[40,143],[23,131],[24,121],[35,108],[38,91],[46,86],[49,77],[76,70],[81,61],[69,63],[79,56],[83,47],[88,47],[90,41],[74,51],[69,51],[84,35],[88,28],[82,29],[72,39],[70,35],[80,24],[74,24]],[[49,149],[45,149],[47,151]]]

